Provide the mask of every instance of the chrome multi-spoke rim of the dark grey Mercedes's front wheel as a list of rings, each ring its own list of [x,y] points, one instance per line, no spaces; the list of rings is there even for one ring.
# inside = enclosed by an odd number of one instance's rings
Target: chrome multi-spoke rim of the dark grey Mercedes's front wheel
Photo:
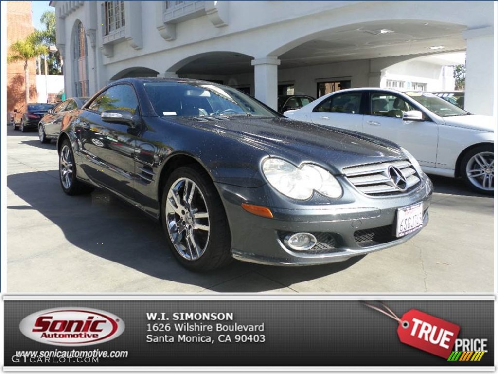
[[[192,180],[179,178],[171,185],[165,204],[175,250],[189,261],[199,259],[209,243],[209,212],[202,191]]]

